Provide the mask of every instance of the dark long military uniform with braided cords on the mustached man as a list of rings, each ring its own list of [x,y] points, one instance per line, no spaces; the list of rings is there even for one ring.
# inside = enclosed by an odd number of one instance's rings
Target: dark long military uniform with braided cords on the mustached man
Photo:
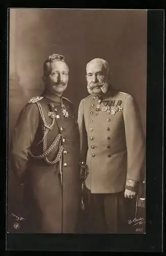
[[[54,101],[46,96],[31,99],[17,120],[9,156],[24,187],[26,232],[75,232],[79,160],[72,103],[58,96]]]

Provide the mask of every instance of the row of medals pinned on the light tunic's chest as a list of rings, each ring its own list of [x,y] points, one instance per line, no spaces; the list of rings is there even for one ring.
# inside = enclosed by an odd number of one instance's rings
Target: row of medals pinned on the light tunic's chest
[[[96,115],[99,114],[100,111],[105,112],[106,114],[115,115],[117,112],[122,111],[122,100],[111,100],[111,101],[102,101],[99,100],[99,103],[96,106]]]

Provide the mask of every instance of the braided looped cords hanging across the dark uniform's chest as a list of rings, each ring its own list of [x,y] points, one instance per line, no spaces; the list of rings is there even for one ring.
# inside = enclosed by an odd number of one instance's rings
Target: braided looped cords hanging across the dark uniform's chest
[[[57,162],[59,162],[61,160],[62,152],[64,150],[63,145],[60,146],[57,157],[54,160],[49,161],[47,156],[53,151],[53,148],[56,147],[59,142],[61,143],[60,140],[61,140],[62,135],[61,135],[61,133],[58,134],[56,136],[56,138],[53,140],[52,144],[47,148],[47,133],[48,133],[49,130],[52,129],[55,118],[52,119],[51,124],[47,124],[46,121],[45,121],[44,114],[43,114],[42,107],[41,107],[40,103],[39,102],[36,102],[36,103],[38,105],[39,112],[40,112],[40,115],[41,115],[41,118],[42,118],[43,124],[44,124],[44,126],[43,126],[44,136],[43,136],[43,139],[41,141],[39,141],[39,143],[43,142],[43,153],[39,156],[34,156],[32,154],[32,152],[29,151],[29,154],[31,155],[31,157],[33,157],[35,159],[43,159],[47,164],[56,164]]]

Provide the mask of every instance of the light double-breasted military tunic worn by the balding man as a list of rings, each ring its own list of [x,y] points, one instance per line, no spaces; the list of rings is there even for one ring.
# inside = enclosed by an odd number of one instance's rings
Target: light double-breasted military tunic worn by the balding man
[[[89,167],[86,186],[91,193],[117,193],[124,189],[126,179],[140,181],[145,160],[141,117],[127,93],[112,89],[103,98],[105,105],[115,100],[121,103],[116,113],[116,108],[105,111],[102,102],[96,113],[98,100],[95,95],[82,99],[78,111],[81,156],[87,154]]]

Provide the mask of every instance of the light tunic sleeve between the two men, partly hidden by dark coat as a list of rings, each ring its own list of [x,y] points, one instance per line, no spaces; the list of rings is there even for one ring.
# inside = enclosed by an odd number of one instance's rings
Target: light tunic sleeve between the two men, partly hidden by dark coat
[[[88,151],[88,138],[84,120],[84,106],[82,100],[80,101],[78,108],[78,129],[80,137],[80,156],[82,161],[86,161]]]

